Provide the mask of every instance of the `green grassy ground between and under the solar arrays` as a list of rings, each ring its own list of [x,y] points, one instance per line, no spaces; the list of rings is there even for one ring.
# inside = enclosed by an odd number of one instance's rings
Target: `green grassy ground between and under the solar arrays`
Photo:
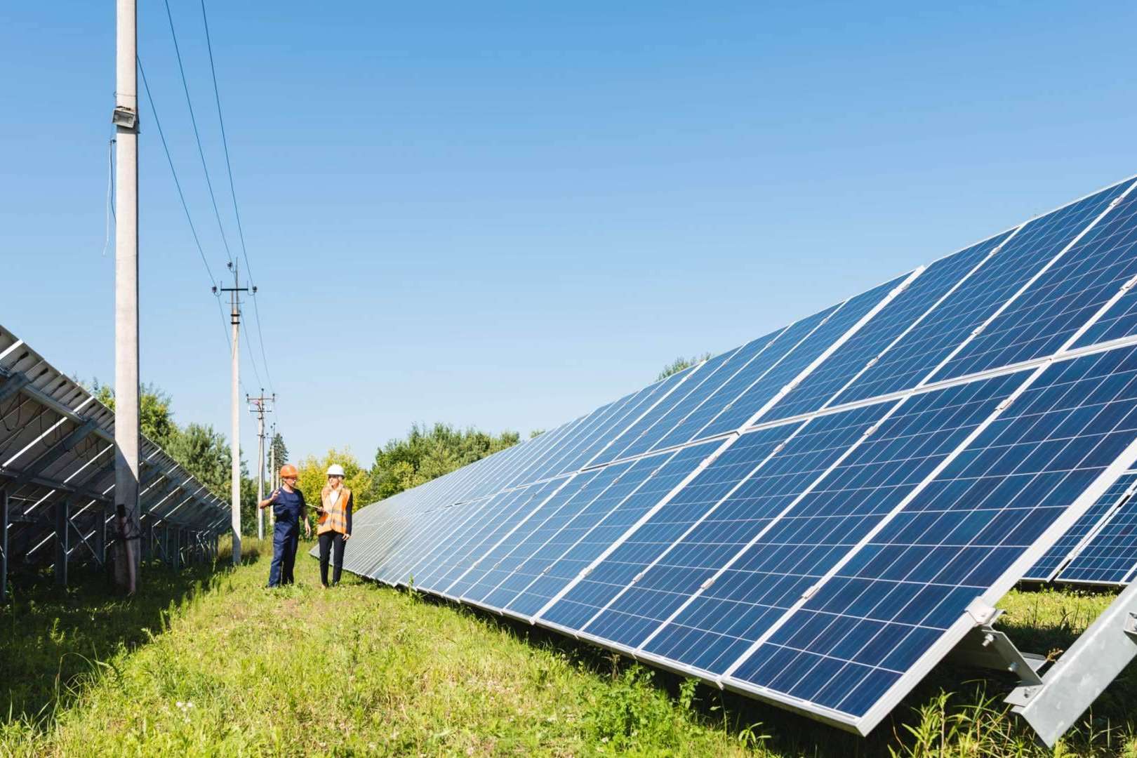
[[[0,753],[1051,755],[1005,714],[1010,683],[978,672],[941,667],[861,739],[415,593],[324,591],[306,556],[296,586],[268,591],[257,548],[236,569],[156,567],[130,601],[96,577],[17,592],[0,610]],[[1002,626],[1059,650],[1111,597],[1014,592]],[[1135,701],[1130,667],[1057,755],[1137,756]]]

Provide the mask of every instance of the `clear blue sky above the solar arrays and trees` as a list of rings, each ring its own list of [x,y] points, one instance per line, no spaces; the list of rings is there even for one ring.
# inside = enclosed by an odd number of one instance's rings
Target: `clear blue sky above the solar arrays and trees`
[[[232,243],[200,7],[171,5]],[[922,5],[211,0],[293,453],[551,427],[1137,173],[1137,6]],[[219,275],[165,8],[140,6]],[[114,2],[5,3],[0,63],[0,324],[110,380]],[[221,317],[142,117],[143,378],[227,432]]]

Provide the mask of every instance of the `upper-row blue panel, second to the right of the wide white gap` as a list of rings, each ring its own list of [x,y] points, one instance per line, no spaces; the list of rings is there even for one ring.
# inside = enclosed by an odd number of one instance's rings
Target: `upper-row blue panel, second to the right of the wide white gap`
[[[935,318],[905,334],[836,402],[853,402],[918,385],[1089,226],[1124,188],[1126,184],[1119,184],[1028,222],[936,308]]]

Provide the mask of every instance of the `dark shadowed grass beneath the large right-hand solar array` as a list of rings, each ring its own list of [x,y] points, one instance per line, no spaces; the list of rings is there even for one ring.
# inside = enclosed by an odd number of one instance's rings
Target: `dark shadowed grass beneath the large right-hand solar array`
[[[373,584],[390,589],[379,582]],[[412,594],[422,602],[455,608],[445,598],[418,591]],[[1109,594],[1102,597],[1106,603]],[[621,653],[508,616],[467,605],[457,608],[518,641],[563,655],[574,665],[604,678],[620,678],[638,665]],[[1002,628],[1023,650],[1056,655],[1069,648],[1094,618],[1096,613],[1088,615],[1084,608],[1046,608],[1035,614],[1015,614]],[[681,701],[683,676],[645,668],[652,672],[654,686],[665,691],[673,701]],[[1034,743],[1030,727],[1010,714],[1003,703],[1003,698],[1016,684],[1016,677],[989,669],[940,664],[866,738],[702,683],[690,708],[708,727],[720,727],[741,743],[753,743],[758,736],[757,741],[765,748],[786,755],[832,758],[928,755],[932,742],[944,740],[948,731],[955,739],[972,740],[971,744],[977,748],[985,745],[976,749],[974,755],[1051,755]],[[1071,731],[1068,735],[1070,747],[1078,752],[1098,752],[1103,748],[1112,752],[1119,736],[1122,740],[1131,736],[1137,728],[1131,709],[1135,700],[1137,663],[1122,672]],[[930,727],[937,732],[931,741],[926,735]]]

